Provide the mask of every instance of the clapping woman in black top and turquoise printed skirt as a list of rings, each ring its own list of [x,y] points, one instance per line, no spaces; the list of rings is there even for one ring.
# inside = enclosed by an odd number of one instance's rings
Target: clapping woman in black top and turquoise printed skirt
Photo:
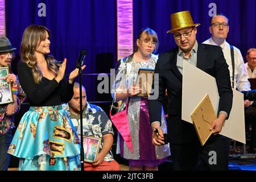
[[[79,69],[65,80],[67,60],[60,64],[49,55],[49,36],[44,26],[31,25],[24,30],[18,75],[30,110],[20,120],[8,152],[20,158],[19,170],[80,170],[80,141],[61,107],[61,102],[73,96]],[[60,130],[70,138],[57,135]]]

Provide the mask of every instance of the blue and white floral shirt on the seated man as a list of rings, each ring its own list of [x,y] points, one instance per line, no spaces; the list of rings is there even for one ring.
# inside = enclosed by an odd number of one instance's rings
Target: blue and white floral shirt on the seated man
[[[62,105],[63,109],[65,109],[71,117],[72,123],[77,130],[77,133],[80,134],[80,115],[72,114],[69,110],[68,104]],[[85,109],[82,113],[82,123],[83,123],[83,134],[93,137],[101,138],[100,151],[102,149],[104,139],[103,135],[105,134],[113,134],[112,122],[106,115],[105,111],[101,109],[101,107],[89,104],[86,102]],[[105,161],[109,162],[114,160],[112,151],[110,150],[108,154],[105,156]]]

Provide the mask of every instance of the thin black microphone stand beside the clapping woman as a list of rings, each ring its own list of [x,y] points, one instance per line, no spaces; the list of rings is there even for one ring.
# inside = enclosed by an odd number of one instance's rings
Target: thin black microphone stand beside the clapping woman
[[[84,171],[84,138],[82,133],[82,65],[77,64],[79,68],[79,94],[80,94],[80,138],[81,138],[81,149],[80,149],[80,162],[81,171]]]

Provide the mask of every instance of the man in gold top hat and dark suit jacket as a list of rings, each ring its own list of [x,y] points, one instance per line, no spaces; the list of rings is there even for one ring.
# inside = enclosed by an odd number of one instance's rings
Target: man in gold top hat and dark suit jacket
[[[159,55],[155,73],[158,73],[159,97],[148,100],[151,126],[159,130],[152,134],[152,143],[163,144],[160,129],[161,107],[165,90],[168,94],[168,142],[171,143],[172,162],[175,170],[226,170],[230,140],[218,135],[232,107],[233,93],[228,64],[220,47],[200,44],[196,41],[199,23],[194,23],[189,11],[171,14],[171,30],[177,47]],[[216,78],[220,95],[218,118],[210,126],[213,135],[204,146],[200,145],[196,130],[188,122],[181,121],[183,61]],[[154,84],[153,84],[154,86]],[[154,89],[154,87],[153,87]],[[189,91],[189,90],[188,90]],[[210,163],[212,152],[216,160]]]

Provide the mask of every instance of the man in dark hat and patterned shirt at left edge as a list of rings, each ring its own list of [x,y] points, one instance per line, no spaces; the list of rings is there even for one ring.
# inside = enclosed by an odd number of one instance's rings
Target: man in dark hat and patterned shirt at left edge
[[[11,46],[9,39],[5,36],[0,37],[0,68],[8,67],[10,74],[6,77],[1,77],[1,82],[9,82],[12,86],[14,102],[10,104],[0,103],[0,171],[6,171],[9,167],[11,156],[7,154],[13,135],[11,129],[14,126],[14,114],[19,111],[20,104],[26,98],[18,78],[11,73],[11,61],[13,59],[13,51],[16,48]],[[2,101],[5,95],[2,93]]]

